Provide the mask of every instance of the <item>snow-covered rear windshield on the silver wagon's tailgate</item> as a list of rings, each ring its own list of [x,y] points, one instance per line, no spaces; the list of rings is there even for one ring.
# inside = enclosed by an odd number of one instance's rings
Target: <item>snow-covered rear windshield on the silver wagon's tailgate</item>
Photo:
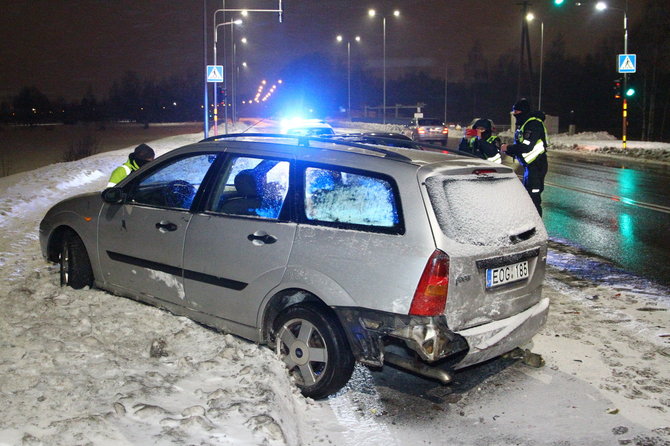
[[[470,245],[509,245],[539,216],[517,178],[438,175],[426,180],[442,232]]]

